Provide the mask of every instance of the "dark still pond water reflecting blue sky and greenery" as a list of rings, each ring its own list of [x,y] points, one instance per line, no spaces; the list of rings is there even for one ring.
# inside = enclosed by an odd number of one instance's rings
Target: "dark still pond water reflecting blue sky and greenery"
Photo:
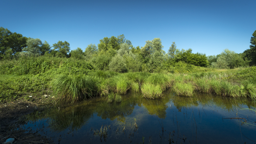
[[[256,143],[256,113],[243,110],[255,109],[251,99],[207,94],[181,97],[173,92],[164,97],[147,100],[140,93],[129,93],[120,103],[92,98],[34,112],[24,127],[61,144]]]

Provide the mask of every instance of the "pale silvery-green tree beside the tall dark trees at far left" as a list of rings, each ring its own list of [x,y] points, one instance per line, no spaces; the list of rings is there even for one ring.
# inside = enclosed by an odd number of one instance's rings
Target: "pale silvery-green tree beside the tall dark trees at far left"
[[[38,56],[41,54],[40,48],[43,45],[42,41],[38,38],[28,38],[27,47],[23,48],[22,51],[27,52],[29,55]]]

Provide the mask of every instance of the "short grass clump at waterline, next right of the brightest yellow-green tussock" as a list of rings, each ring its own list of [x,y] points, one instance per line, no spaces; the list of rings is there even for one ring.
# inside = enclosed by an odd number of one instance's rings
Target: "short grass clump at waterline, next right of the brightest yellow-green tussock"
[[[194,86],[191,83],[177,82],[175,83],[173,90],[178,96],[192,96]]]

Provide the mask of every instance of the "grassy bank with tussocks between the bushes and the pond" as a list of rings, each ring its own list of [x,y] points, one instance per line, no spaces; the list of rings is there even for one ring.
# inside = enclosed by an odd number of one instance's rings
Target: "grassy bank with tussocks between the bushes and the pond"
[[[195,92],[202,92],[256,98],[255,67],[184,74],[164,71],[116,73],[92,69],[87,70],[88,73],[71,75],[51,73],[52,71],[1,75],[1,103],[16,99],[30,101],[34,97],[44,97],[44,95],[54,96],[56,101],[67,103],[95,96],[107,96],[109,102],[112,102],[121,101],[122,95],[127,92],[139,91],[142,92],[143,97],[156,99],[161,98],[163,92],[169,88],[181,96],[193,96]],[[110,93],[113,96],[110,96]]]

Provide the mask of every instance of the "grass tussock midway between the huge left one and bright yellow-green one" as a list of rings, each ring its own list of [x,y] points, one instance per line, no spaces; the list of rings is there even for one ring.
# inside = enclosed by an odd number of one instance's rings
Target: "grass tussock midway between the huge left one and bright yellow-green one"
[[[117,75],[110,78],[110,89],[118,94],[126,94],[129,89],[128,79],[124,75]]]

